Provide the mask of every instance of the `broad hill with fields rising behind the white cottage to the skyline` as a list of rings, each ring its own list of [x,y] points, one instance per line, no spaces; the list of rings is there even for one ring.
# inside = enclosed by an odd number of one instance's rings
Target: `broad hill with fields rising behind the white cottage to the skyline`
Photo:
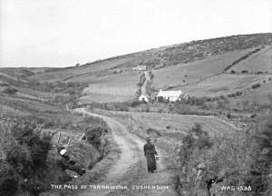
[[[162,46],[66,68],[1,68],[0,83],[89,83],[90,88],[84,92],[90,95],[88,99],[125,101],[137,91],[141,74],[132,71],[132,67],[146,65],[154,73],[155,90],[181,88],[196,96],[218,96],[270,81],[271,44],[272,33],[240,34]],[[240,75],[245,73],[252,75]],[[210,85],[215,79],[217,85]]]

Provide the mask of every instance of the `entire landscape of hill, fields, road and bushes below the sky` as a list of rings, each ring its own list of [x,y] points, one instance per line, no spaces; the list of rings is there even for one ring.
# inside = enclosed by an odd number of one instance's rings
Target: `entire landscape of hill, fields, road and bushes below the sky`
[[[269,196],[271,95],[271,33],[0,68],[0,195]],[[93,184],[121,188],[81,188]]]

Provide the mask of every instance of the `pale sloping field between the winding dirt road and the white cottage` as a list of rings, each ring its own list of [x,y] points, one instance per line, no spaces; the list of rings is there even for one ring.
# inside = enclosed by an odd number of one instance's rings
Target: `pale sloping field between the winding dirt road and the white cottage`
[[[200,115],[180,115],[170,113],[134,113],[134,112],[105,112],[98,111],[116,118],[127,125],[128,130],[139,135],[141,138],[148,136],[148,129],[155,129],[153,137],[162,140],[180,142],[181,138],[189,132],[189,128],[199,123],[203,130],[209,132],[211,137],[219,137],[237,132],[237,127],[232,123],[225,122],[217,117]]]

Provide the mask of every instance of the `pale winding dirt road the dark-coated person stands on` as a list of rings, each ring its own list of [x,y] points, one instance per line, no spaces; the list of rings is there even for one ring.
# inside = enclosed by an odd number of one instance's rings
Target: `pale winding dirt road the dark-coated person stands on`
[[[112,129],[114,141],[121,149],[121,157],[115,162],[107,173],[105,181],[99,185],[108,185],[110,189],[87,188],[82,196],[104,196],[104,195],[148,195],[148,196],[173,196],[176,195],[173,183],[173,172],[165,167],[163,159],[158,162],[158,170],[155,173],[148,173],[146,160],[143,156],[144,142],[137,136],[132,135],[124,126],[112,118],[93,114],[85,109],[78,109],[77,112],[101,117]],[[163,152],[157,149],[160,157]],[[116,188],[119,186],[119,190]],[[114,189],[115,187],[115,189]]]

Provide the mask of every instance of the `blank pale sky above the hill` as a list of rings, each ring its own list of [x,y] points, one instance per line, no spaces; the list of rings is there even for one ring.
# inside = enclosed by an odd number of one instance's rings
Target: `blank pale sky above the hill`
[[[272,0],[0,0],[0,67],[64,67],[272,32]]]

